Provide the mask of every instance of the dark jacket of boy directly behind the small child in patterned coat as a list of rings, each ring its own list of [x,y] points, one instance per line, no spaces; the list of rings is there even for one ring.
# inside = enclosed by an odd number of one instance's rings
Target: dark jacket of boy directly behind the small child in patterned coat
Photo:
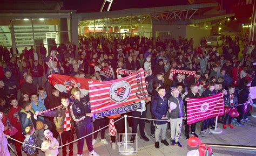
[[[31,114],[31,117],[27,118],[26,115],[28,115],[29,112]],[[25,129],[27,126],[33,126],[36,129],[36,120],[33,117],[35,115],[35,112],[32,109],[29,112],[26,112],[24,109],[21,109],[19,111],[19,119],[21,120],[22,133],[24,135],[26,135]]]

